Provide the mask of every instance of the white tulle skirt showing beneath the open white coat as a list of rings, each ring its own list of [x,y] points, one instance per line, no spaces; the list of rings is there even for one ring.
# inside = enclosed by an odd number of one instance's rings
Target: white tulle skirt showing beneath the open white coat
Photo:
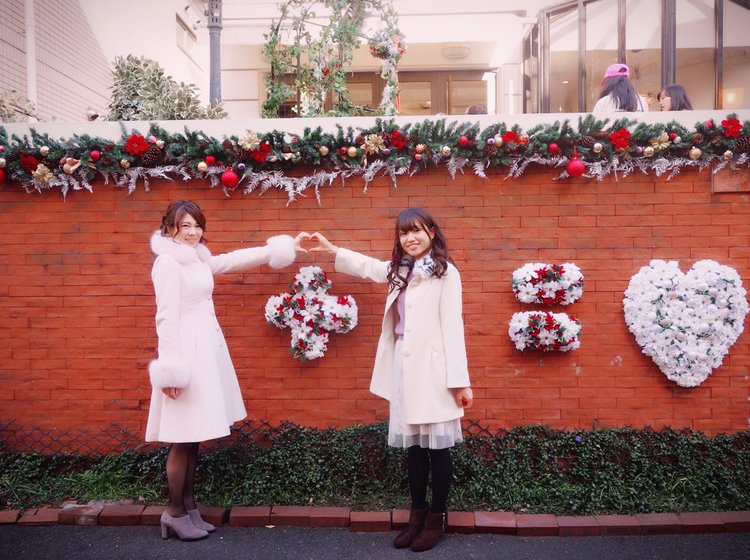
[[[411,447],[418,445],[426,449],[446,449],[463,441],[461,419],[435,422],[433,424],[407,424],[404,419],[404,366],[402,341],[396,342],[393,359],[393,398],[390,401],[388,422],[388,445]]]

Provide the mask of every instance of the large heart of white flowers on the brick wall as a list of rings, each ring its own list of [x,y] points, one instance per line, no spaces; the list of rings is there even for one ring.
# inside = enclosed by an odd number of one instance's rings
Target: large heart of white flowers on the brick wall
[[[681,387],[697,387],[742,333],[746,292],[733,268],[698,261],[683,274],[677,261],[652,260],[630,279],[625,322],[643,353]]]

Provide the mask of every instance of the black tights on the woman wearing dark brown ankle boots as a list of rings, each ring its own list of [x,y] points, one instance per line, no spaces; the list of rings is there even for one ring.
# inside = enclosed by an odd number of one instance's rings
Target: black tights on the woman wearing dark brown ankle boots
[[[443,513],[448,506],[448,494],[453,480],[453,459],[450,449],[424,449],[412,445],[406,454],[406,471],[409,474],[411,507],[427,507],[427,479],[432,473],[432,513]]]

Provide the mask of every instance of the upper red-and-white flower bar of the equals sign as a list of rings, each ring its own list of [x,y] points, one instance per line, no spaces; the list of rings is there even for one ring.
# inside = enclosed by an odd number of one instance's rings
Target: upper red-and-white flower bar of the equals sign
[[[570,305],[583,294],[583,273],[573,263],[526,263],[513,271],[512,283],[522,303]]]

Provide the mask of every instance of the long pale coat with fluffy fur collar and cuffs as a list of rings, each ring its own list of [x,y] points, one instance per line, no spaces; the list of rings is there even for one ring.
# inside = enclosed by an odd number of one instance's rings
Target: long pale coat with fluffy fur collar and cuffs
[[[237,374],[212,299],[214,274],[262,264],[294,262],[294,240],[271,237],[267,245],[211,255],[205,245],[181,245],[155,232],[151,270],[156,293],[158,358],[149,364],[151,406],[146,441],[185,443],[229,435],[247,416]],[[164,387],[180,388],[176,399]]]

